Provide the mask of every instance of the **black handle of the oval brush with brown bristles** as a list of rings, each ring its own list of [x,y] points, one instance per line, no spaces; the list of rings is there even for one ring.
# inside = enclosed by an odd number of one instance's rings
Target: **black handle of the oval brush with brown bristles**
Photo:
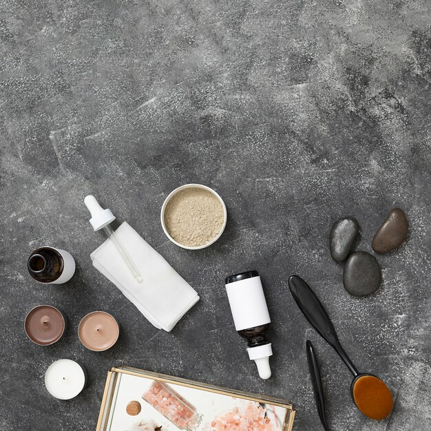
[[[335,333],[334,326],[332,322],[330,322],[328,313],[326,313],[322,303],[311,290],[310,286],[308,286],[301,277],[292,275],[289,278],[289,288],[291,289],[293,299],[295,299],[295,302],[304,316],[308,319],[308,322],[310,322],[313,328],[315,328],[315,330],[317,330],[317,332],[324,337],[326,341],[328,341],[330,346],[333,346],[350,372],[357,377],[359,372],[357,372],[355,365],[350,361],[350,358],[341,346],[337,333]]]

